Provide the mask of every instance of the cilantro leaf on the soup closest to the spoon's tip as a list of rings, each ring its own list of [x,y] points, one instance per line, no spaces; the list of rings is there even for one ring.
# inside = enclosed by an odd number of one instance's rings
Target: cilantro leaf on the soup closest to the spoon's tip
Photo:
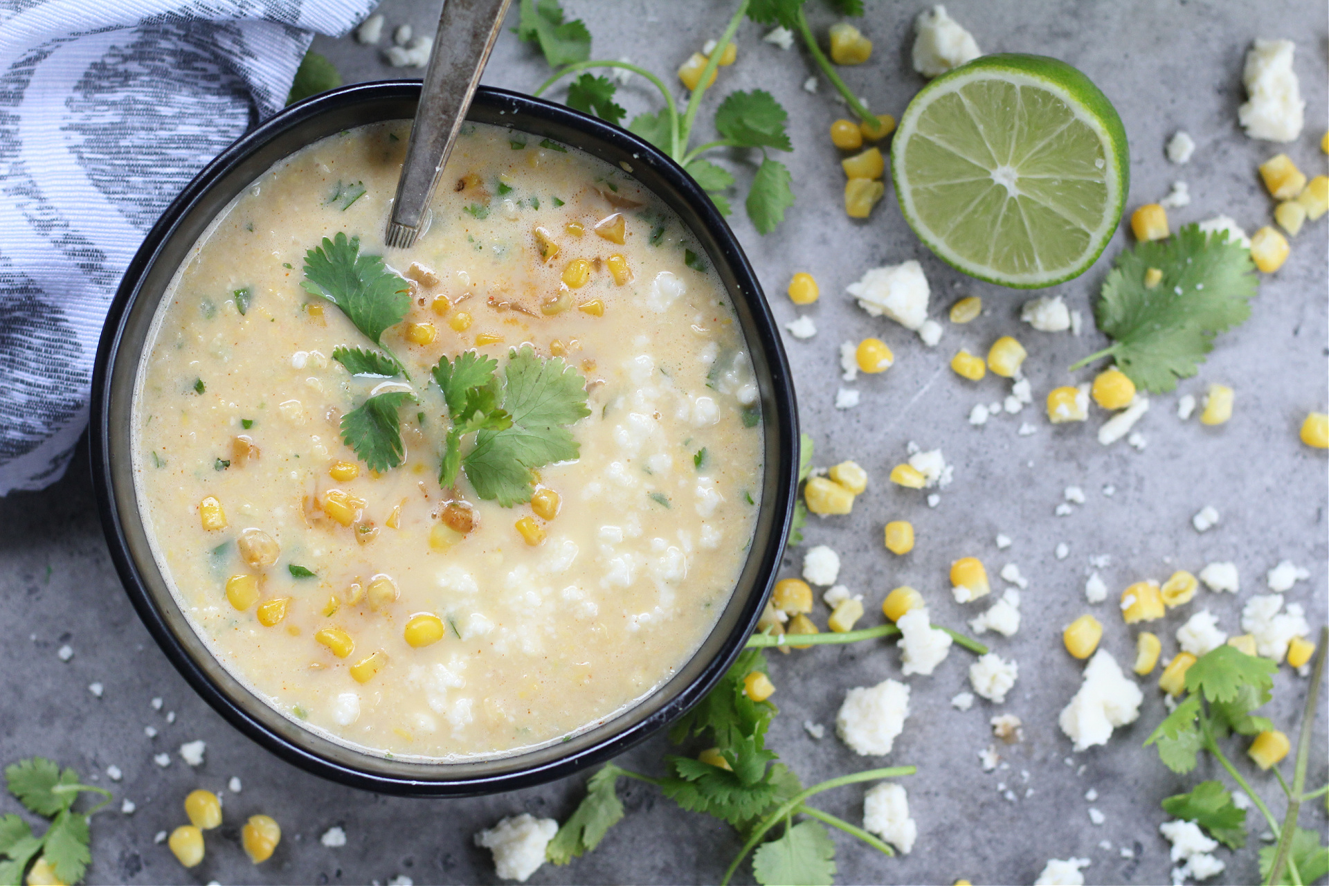
[[[383,267],[379,255],[360,255],[360,238],[323,238],[323,244],[304,254],[300,287],[342,308],[373,344],[383,347],[383,331],[401,323],[411,308],[405,279]]]

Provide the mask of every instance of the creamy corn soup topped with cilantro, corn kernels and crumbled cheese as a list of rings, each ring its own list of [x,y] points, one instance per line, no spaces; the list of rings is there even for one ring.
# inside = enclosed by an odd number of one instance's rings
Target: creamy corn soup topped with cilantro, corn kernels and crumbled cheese
[[[134,474],[231,673],[448,761],[594,727],[690,658],[747,555],[763,426],[718,276],[627,171],[468,126],[388,250],[408,133],[292,154],[199,238],[140,367]]]

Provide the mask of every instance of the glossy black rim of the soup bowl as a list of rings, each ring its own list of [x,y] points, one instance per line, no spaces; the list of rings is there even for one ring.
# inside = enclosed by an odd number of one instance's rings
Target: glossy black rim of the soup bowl
[[[542,784],[545,781],[570,776],[581,769],[621,754],[633,745],[646,740],[672,720],[678,719],[688,708],[700,701],[704,695],[711,691],[711,688],[714,688],[714,685],[743,651],[744,642],[760,616],[762,607],[769,596],[776,571],[780,566],[784,542],[791,527],[795,489],[797,485],[797,404],[779,328],[771,315],[769,306],[766,302],[760,283],[758,282],[747,256],[743,254],[738,239],[734,236],[734,232],[730,230],[723,217],[696,182],[694,182],[692,178],[663,151],[625,129],[599,118],[582,114],[581,112],[563,105],[557,105],[522,93],[480,86],[476,92],[472,108],[489,109],[489,112],[497,108],[500,109],[500,116],[512,114],[516,118],[513,121],[514,129],[530,132],[524,128],[520,121],[525,121],[528,124],[533,121],[556,129],[575,130],[585,139],[585,142],[595,142],[606,151],[614,154],[630,154],[634,162],[639,162],[649,167],[653,175],[662,178],[664,183],[667,183],[679,197],[679,199],[687,205],[688,211],[695,215],[695,221],[688,223],[684,219],[684,224],[692,228],[694,235],[699,234],[698,227],[704,228],[704,234],[708,235],[719,247],[720,255],[718,256],[711,254],[711,259],[716,262],[718,270],[728,272],[728,275],[732,276],[732,283],[728,286],[728,295],[735,302],[736,307],[742,303],[743,308],[746,308],[748,321],[742,327],[743,333],[748,341],[750,349],[756,351],[756,348],[760,348],[762,363],[764,363],[769,376],[769,391],[762,391],[763,425],[767,437],[764,453],[767,461],[769,461],[773,448],[777,453],[777,464],[775,465],[773,477],[776,478],[776,482],[773,484],[773,487],[771,482],[772,473],[769,466],[767,466],[767,481],[763,487],[760,509],[771,509],[773,513],[767,515],[759,513],[758,523],[754,531],[760,533],[763,522],[768,523],[769,531],[763,546],[758,549],[756,545],[754,545],[752,551],[750,551],[743,566],[743,576],[736,583],[735,590],[742,588],[744,579],[754,570],[754,562],[756,563],[756,580],[751,583],[751,590],[743,603],[738,620],[734,623],[730,632],[723,638],[719,651],[714,654],[711,660],[703,665],[699,675],[694,676],[688,684],[683,685],[683,688],[678,691],[674,697],[664,701],[658,709],[649,713],[643,719],[629,723],[626,728],[618,732],[610,731],[610,735],[606,735],[603,739],[591,741],[581,748],[570,749],[570,752],[565,756],[554,754],[553,758],[549,760],[537,761],[530,765],[512,766],[509,770],[493,774],[477,774],[451,780],[404,777],[399,774],[387,774],[384,772],[373,772],[368,768],[330,760],[316,751],[308,747],[302,747],[298,741],[279,735],[276,731],[266,725],[259,716],[245,709],[245,705],[229,697],[222,688],[214,683],[214,679],[209,676],[203,667],[194,660],[194,656],[185,648],[182,640],[169,626],[166,615],[163,614],[157,598],[145,584],[144,573],[132,553],[125,525],[126,518],[140,523],[142,522],[140,521],[137,507],[133,509],[133,513],[130,514],[122,514],[121,507],[117,505],[117,481],[114,477],[116,465],[112,464],[112,452],[114,452],[117,444],[113,438],[117,438],[120,434],[130,433],[130,430],[125,428],[113,428],[110,421],[112,401],[116,397],[117,387],[117,361],[121,364],[125,361],[133,363],[133,368],[129,369],[129,377],[133,380],[137,377],[137,365],[140,360],[138,352],[121,353],[120,345],[122,336],[125,335],[126,323],[134,315],[134,306],[140,300],[138,296],[145,286],[146,275],[153,270],[154,263],[161,255],[163,247],[171,240],[179,224],[186,219],[191,210],[199,205],[201,199],[209,194],[210,189],[225,182],[227,175],[234,174],[237,167],[243,161],[258,153],[274,138],[296,129],[302,124],[307,124],[319,116],[331,114],[356,104],[375,101],[417,101],[420,90],[421,82],[417,80],[375,81],[352,84],[350,86],[330,90],[291,105],[233,142],[215,159],[207,163],[181,191],[181,194],[171,201],[157,223],[148,232],[142,246],[126,267],[106,313],[93,368],[89,458],[92,462],[92,478],[98,515],[101,518],[110,557],[116,566],[116,571],[120,575],[121,583],[125,587],[134,610],[138,612],[140,619],[144,622],[158,647],[161,647],[165,652],[167,660],[170,660],[190,687],[198,692],[199,696],[202,696],[202,699],[213,707],[213,709],[221,713],[223,719],[226,719],[243,735],[282,760],[307,772],[344,785],[380,793],[423,797],[473,796]],[[319,138],[322,138],[322,135]],[[314,141],[318,141],[318,138]],[[587,150],[585,142],[574,143],[574,146],[581,150]],[[312,143],[312,141],[307,143]],[[589,153],[595,155],[595,151],[593,150]],[[629,171],[631,173],[631,170]],[[666,194],[658,195],[667,201]],[[227,202],[231,198],[227,198]],[[195,238],[197,235],[190,238],[189,243],[194,243]],[[171,270],[171,274],[174,274],[174,270]],[[736,286],[734,286],[735,283]],[[152,294],[146,295],[145,299],[152,299],[152,307],[145,307],[138,313],[149,311],[150,315],[155,315],[159,300],[152,298]],[[744,312],[740,310],[739,313],[742,323]],[[754,360],[758,360],[758,353],[754,353]],[[122,373],[124,369],[120,371],[120,377],[122,377]],[[133,391],[129,392],[128,397],[132,402]],[[155,563],[152,565],[152,569],[157,570]],[[159,573],[159,570],[157,571]],[[726,608],[728,610],[732,604],[734,598],[731,596]],[[706,646],[711,643],[712,636],[719,630],[719,626],[724,619],[726,614],[722,612],[720,619],[716,622],[716,626],[712,627],[711,634],[703,638],[702,647],[699,647],[698,652],[694,654],[694,658],[686,664],[691,664],[695,662],[696,656],[703,654]],[[217,664],[221,663],[218,662]],[[225,665],[221,667],[225,669]],[[683,667],[679,668],[679,672],[682,671]],[[647,704],[653,696],[658,696],[661,691],[676,679],[678,675],[666,679],[659,687],[653,689],[651,693],[643,696],[635,704],[607,717],[605,725],[613,724],[622,717],[630,717],[633,711]],[[247,687],[245,688],[247,689]],[[249,695],[254,699],[254,701],[256,701],[259,711],[275,711],[260,697],[255,696],[253,691],[249,691]],[[278,712],[278,716],[282,715]],[[590,732],[603,728],[603,725],[599,725],[595,727],[595,729],[590,729]],[[298,727],[298,733],[303,733],[302,737],[306,739],[311,736],[322,739],[318,732],[303,727]],[[582,733],[573,735],[578,736]],[[330,740],[323,739],[323,741]],[[540,745],[537,751],[533,752],[517,753],[508,757],[496,757],[482,762],[520,762],[522,757],[530,756],[532,753],[540,753],[548,747],[549,745]],[[363,758],[365,761],[383,761],[383,757],[365,754],[355,751],[354,748],[350,751],[356,758]],[[548,757],[549,754],[545,753],[544,756]],[[428,769],[431,765],[439,766],[441,772],[457,764],[420,764],[420,769]]]

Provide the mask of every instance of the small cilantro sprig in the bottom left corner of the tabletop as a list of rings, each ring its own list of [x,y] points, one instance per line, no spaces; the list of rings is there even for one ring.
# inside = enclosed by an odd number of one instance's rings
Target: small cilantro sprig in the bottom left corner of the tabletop
[[[61,769],[60,764],[44,757],[12,764],[4,774],[9,793],[28,812],[49,818],[51,825],[37,837],[19,816],[0,817],[0,858],[5,859],[0,861],[0,885],[19,886],[24,873],[39,859],[52,867],[60,882],[77,883],[92,862],[88,818],[110,802],[110,792],[81,784],[77,772]],[[85,813],[74,812],[74,801],[84,792],[100,794],[102,801]]]

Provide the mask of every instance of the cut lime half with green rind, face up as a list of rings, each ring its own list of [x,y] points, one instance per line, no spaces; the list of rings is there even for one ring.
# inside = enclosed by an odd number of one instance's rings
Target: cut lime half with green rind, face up
[[[922,88],[890,146],[900,209],[942,260],[989,283],[1083,274],[1122,218],[1126,130],[1088,77],[983,56]]]

